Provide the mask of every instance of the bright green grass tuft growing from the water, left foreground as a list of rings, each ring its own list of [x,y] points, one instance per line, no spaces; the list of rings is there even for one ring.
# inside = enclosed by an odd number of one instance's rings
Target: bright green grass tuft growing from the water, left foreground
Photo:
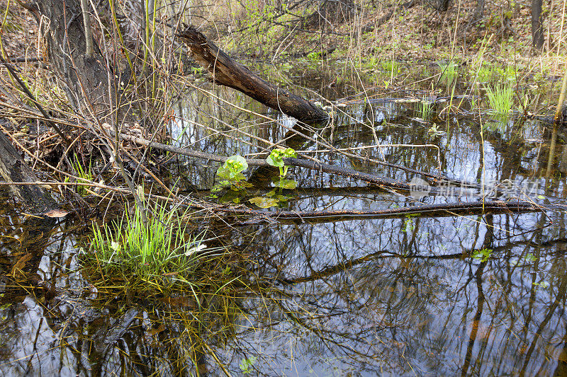
[[[137,207],[122,219],[102,227],[93,224],[92,260],[109,280],[123,280],[142,289],[159,291],[191,282],[191,273],[215,250],[202,243],[202,236],[186,232],[186,211],[155,204],[144,224]]]

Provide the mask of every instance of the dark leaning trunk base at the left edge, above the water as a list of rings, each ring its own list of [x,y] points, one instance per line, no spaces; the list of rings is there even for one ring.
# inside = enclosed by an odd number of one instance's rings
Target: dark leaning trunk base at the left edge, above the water
[[[37,182],[38,178],[26,161],[16,151],[4,132],[0,132],[0,174],[8,182]],[[10,185],[16,194],[31,211],[45,214],[57,209],[57,203],[50,193],[40,185]]]

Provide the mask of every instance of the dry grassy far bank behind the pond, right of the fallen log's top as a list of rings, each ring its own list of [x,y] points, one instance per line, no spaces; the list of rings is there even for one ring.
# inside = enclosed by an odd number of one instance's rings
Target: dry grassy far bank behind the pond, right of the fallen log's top
[[[232,50],[269,59],[329,51],[332,51],[328,54],[331,59],[347,58],[362,64],[369,59],[460,63],[483,59],[561,76],[565,11],[564,1],[544,1],[545,42],[541,54],[532,48],[531,4],[501,0],[486,2],[479,17],[474,16],[475,0],[451,2],[444,12],[437,11],[427,1],[415,2],[408,8],[397,2],[385,2],[376,8],[363,8],[350,21],[330,25],[327,33],[295,31],[291,21],[259,23],[252,16],[242,14],[240,20],[234,15],[223,16],[215,22],[215,27],[225,21],[226,30],[239,30],[227,33],[222,27],[217,29],[225,35],[221,40]]]

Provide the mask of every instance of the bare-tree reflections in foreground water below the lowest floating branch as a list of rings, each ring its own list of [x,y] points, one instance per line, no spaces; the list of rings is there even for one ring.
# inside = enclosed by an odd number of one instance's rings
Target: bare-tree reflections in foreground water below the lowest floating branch
[[[218,374],[220,364],[238,373],[242,359],[257,356],[254,368],[269,374],[554,369],[567,336],[567,279],[553,248],[567,235],[548,231],[543,215],[520,216],[525,228],[506,215],[227,228],[225,240],[250,255],[235,260],[249,272],[232,296],[199,301],[103,291],[88,301],[87,282],[56,267],[74,253],[56,237],[35,268],[77,289],[55,298],[16,292],[23,301],[1,310],[0,368],[189,375],[197,365]],[[479,248],[493,256],[471,259]],[[548,288],[532,284],[542,280]]]

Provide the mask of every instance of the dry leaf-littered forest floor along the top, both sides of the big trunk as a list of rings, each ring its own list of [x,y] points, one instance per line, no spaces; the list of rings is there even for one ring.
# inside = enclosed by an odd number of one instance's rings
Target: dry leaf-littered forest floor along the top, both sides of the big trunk
[[[531,6],[527,3],[486,2],[482,15],[476,18],[475,0],[451,2],[444,12],[437,11],[427,1],[411,6],[406,3],[408,7],[394,2],[375,3],[376,8],[361,8],[352,22],[327,25],[322,32],[321,28],[294,30],[295,26],[290,26],[293,18],[286,16],[271,22],[266,6],[239,10],[232,3],[227,6],[228,2],[216,4],[213,17],[203,18],[208,22],[200,18],[189,21],[206,30],[208,37],[217,40],[223,50],[240,57],[277,64],[304,57],[313,66],[319,62],[321,68],[325,66],[322,60],[340,61],[363,74],[376,71],[377,67],[382,70],[391,67],[393,63],[389,62],[398,62],[406,70],[418,63],[437,68],[438,64],[454,62],[464,67],[459,72],[468,71],[473,76],[471,72],[484,64],[500,72],[512,69],[515,82],[525,86],[550,81],[554,92],[565,69],[565,49],[561,48],[566,42],[563,0],[544,1],[545,43],[541,53],[532,48]],[[305,9],[303,14],[311,11]],[[18,59],[18,67],[31,81],[33,76],[38,82],[45,81],[39,78],[50,75],[48,70],[38,71],[38,64],[26,62],[39,57],[48,64],[44,38],[35,18],[7,0],[0,0],[0,13],[4,15],[0,36],[5,56]],[[40,92],[41,85],[36,85]]]

